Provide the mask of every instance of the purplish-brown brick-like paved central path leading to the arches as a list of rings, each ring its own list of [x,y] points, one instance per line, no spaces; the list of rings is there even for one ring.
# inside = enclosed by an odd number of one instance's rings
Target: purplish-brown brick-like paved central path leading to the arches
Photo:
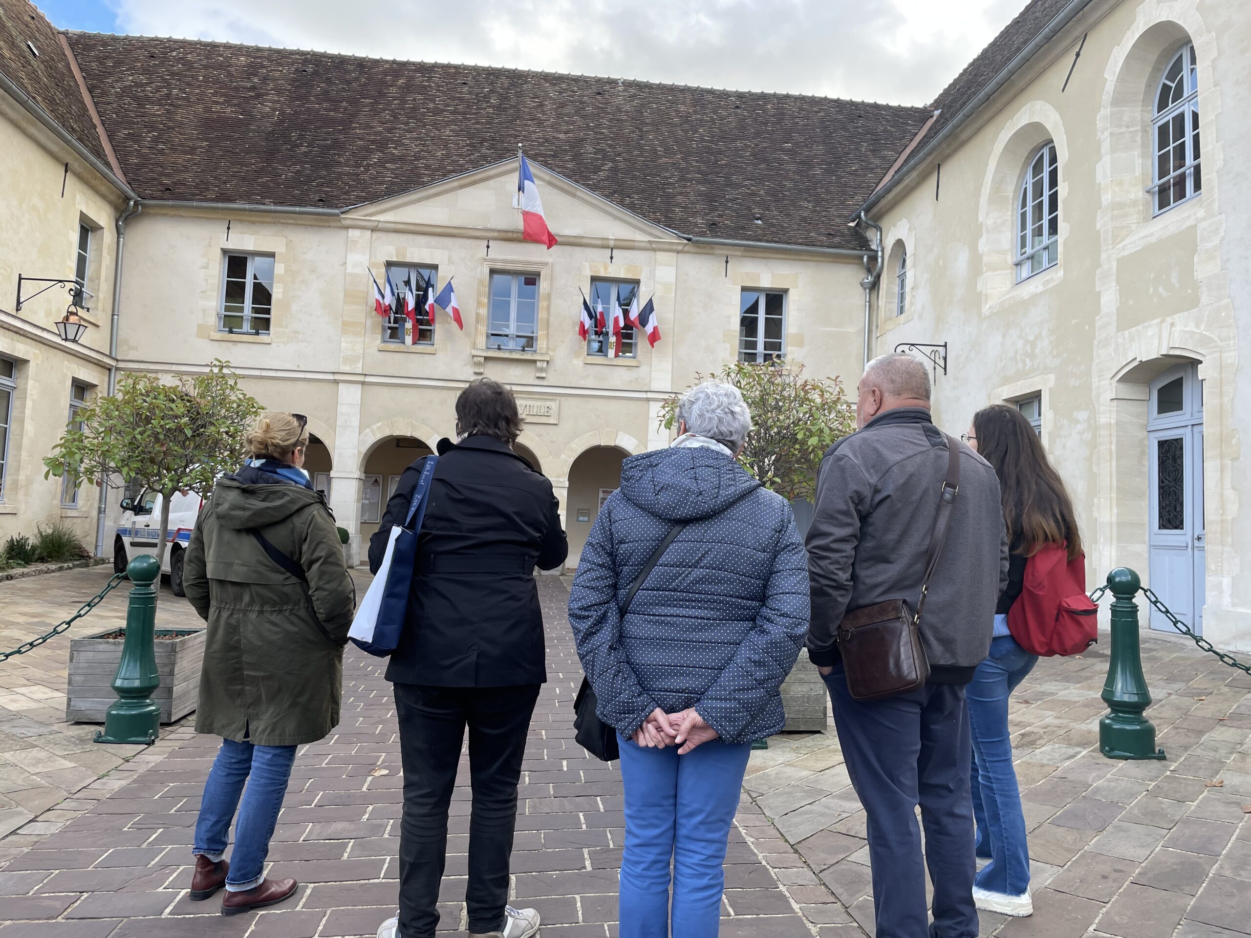
[[[568,592],[543,578],[548,677],[532,724],[513,854],[514,902],[539,909],[543,934],[615,934],[620,775],[573,740],[582,678],[564,617]],[[215,737],[189,735],[160,762],[0,869],[0,938],[372,935],[394,914],[400,768],[383,663],[354,649],[344,667],[343,722],[303,747],[270,859],[300,880],[273,910],[223,918],[193,903],[190,838]],[[468,764],[452,804],[442,927],[462,924],[469,822]],[[772,828],[748,803],[731,837],[722,934],[811,935],[744,830]],[[756,838],[753,838],[756,839]],[[768,838],[759,838],[767,842]]]

